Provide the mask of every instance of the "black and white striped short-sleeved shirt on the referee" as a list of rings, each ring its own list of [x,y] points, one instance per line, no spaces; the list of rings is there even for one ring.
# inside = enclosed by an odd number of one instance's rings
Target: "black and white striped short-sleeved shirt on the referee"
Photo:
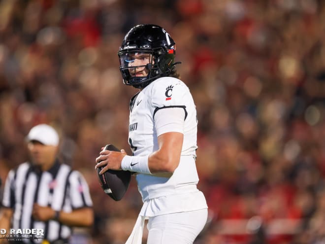
[[[36,221],[32,217],[33,204],[70,212],[92,207],[88,185],[78,171],[58,161],[48,171],[41,172],[29,162],[11,170],[7,176],[2,205],[14,210],[13,229],[43,229],[44,239],[52,242],[67,239],[71,228],[55,220]],[[26,240],[40,243],[41,240]]]

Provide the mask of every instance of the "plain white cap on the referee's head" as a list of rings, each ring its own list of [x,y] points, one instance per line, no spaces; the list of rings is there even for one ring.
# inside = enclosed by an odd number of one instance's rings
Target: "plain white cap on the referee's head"
[[[34,126],[27,135],[27,141],[37,140],[44,145],[59,145],[59,135],[53,127],[46,124]]]

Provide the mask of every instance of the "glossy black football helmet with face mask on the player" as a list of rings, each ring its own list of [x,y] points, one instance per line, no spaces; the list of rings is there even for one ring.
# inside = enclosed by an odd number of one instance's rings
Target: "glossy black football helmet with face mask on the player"
[[[131,66],[132,56],[137,53],[147,56],[150,54],[151,62],[146,65]],[[135,88],[144,88],[159,77],[169,76],[177,64],[174,62],[174,40],[157,25],[145,24],[133,27],[124,37],[118,56],[124,84]],[[131,75],[137,68],[147,69],[148,75],[141,77]]]

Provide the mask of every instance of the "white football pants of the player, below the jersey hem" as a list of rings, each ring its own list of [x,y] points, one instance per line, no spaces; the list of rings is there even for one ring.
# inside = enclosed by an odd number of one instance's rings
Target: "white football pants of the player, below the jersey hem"
[[[193,244],[202,231],[208,209],[149,217],[147,244]]]

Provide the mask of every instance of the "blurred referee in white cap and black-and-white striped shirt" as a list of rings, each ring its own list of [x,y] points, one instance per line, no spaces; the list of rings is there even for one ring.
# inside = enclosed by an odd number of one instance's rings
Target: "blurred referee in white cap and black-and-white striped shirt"
[[[33,127],[27,143],[31,161],[9,172],[0,214],[2,232],[20,235],[2,235],[0,243],[67,244],[72,227],[93,224],[88,185],[78,171],[59,162],[59,136],[51,126]]]

